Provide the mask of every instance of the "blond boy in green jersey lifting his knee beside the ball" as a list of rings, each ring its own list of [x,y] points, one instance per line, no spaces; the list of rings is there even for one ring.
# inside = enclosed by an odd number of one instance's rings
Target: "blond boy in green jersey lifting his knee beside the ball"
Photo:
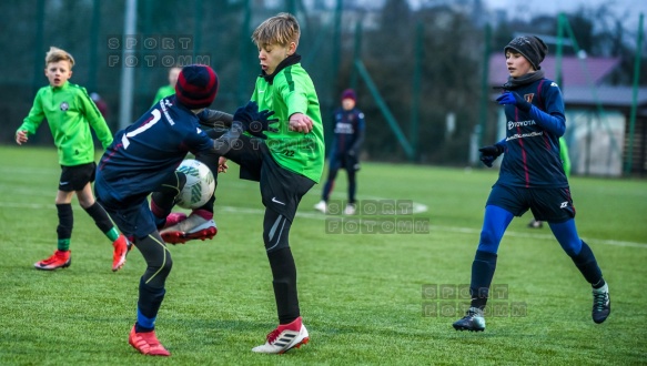
[[[275,113],[276,131],[263,133],[252,125],[251,136],[242,135],[239,144],[216,163],[220,169],[212,169],[218,176],[226,170],[230,159],[241,166],[241,179],[260,182],[265,206],[263,243],[272,270],[279,326],[267,334],[265,344],[252,349],[256,353],[282,354],[309,342],[299,308],[296,266],[289,235],[301,199],[321,180],[324,136],[319,98],[296,53],[299,38],[299,22],[289,13],[265,20],[254,31],[252,40],[259,49],[262,72],[251,100],[259,103],[260,110]],[[205,131],[212,139],[226,131],[222,113],[209,110],[200,119],[203,126],[214,126]],[[218,126],[222,122],[224,129]],[[162,234],[190,235],[211,218],[200,215],[204,212],[194,210],[189,218],[164,228]]]

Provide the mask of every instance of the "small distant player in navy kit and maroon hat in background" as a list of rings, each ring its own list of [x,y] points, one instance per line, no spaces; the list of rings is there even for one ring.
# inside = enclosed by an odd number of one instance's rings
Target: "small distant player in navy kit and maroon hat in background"
[[[360,152],[364,142],[364,113],[355,108],[357,95],[352,89],[342,93],[342,106],[334,113],[334,139],[328,154],[328,177],[324,184],[322,199],[314,209],[327,212],[327,203],[335,185],[340,169],[346,170],[348,176],[348,203],[344,209],[346,215],[355,213],[356,173],[360,170]]]

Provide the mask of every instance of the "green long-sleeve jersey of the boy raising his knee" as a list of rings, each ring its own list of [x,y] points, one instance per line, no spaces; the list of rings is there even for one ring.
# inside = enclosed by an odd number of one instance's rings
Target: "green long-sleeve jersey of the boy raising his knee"
[[[310,75],[301,63],[292,63],[294,61],[290,59],[286,61],[274,74],[259,77],[252,101],[259,103],[260,111],[274,111],[275,114],[271,119],[279,120],[277,124],[271,125],[279,132],[265,133],[267,135],[265,143],[276,163],[319,183],[325,159],[319,98]],[[290,116],[294,113],[303,113],[312,119],[313,126],[310,133],[290,131]]]

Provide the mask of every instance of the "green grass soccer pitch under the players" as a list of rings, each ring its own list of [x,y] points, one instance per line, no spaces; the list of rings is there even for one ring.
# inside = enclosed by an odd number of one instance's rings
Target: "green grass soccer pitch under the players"
[[[144,270],[133,250],[112,273],[112,247],[78,202],[72,265],[32,267],[55,248],[55,150],[0,146],[0,365],[636,365],[647,359],[647,182],[573,177],[576,223],[609,283],[613,312],[590,319],[590,287],[548,227],[516,218],[504,236],[484,333],[456,332],[478,243],[493,169],[364,163],[358,199],[414,213],[354,221],[313,211],[322,185],[303,199],[291,233],[304,324],[301,349],[256,355],[276,325],[261,238],[257,184],[221,175],[219,234],[170,246],[174,266],[156,332],[168,359],[128,344]],[[345,199],[340,173],[333,197]],[[341,218],[346,218],[340,224]],[[417,223],[368,233],[378,222]],[[357,233],[357,228],[360,233]],[[384,228],[386,227],[386,228]],[[364,231],[362,233],[362,231]],[[493,305],[493,308],[494,308]]]

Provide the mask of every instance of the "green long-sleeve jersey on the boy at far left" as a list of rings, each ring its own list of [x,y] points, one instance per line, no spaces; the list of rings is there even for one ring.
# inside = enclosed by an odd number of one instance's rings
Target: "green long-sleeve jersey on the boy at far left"
[[[90,126],[103,149],[112,143],[112,132],[82,87],[65,82],[62,87],[41,88],[17,132],[34,134],[46,119],[58,148],[61,165],[74,166],[94,161],[94,142]]]

